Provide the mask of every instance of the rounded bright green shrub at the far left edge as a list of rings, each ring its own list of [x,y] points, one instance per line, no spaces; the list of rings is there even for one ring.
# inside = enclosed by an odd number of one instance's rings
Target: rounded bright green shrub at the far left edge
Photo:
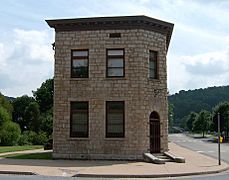
[[[0,140],[2,145],[16,145],[21,134],[20,126],[12,121],[3,123],[0,130]]]

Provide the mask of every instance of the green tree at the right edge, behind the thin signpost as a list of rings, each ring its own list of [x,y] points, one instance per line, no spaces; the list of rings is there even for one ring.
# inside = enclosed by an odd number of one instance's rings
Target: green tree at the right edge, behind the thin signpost
[[[220,113],[220,131],[226,132],[226,141],[228,141],[229,131],[229,102],[221,102],[213,108],[213,129],[217,131],[218,121],[217,115]]]

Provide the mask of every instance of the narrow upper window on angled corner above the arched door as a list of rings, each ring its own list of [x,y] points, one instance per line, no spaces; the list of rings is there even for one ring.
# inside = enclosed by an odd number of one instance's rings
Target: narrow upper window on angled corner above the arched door
[[[158,79],[157,52],[149,51],[149,77]]]

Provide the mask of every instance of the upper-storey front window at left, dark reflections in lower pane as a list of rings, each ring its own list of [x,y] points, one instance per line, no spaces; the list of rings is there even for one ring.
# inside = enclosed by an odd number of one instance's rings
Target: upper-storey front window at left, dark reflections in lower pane
[[[88,50],[72,50],[72,78],[88,78]]]

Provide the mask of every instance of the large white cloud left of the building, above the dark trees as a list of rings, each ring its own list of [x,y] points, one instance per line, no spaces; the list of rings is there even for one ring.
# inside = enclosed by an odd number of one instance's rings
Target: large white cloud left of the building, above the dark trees
[[[14,29],[8,33],[8,41],[0,43],[3,94],[31,95],[45,79],[53,77],[52,41],[46,31]]]

